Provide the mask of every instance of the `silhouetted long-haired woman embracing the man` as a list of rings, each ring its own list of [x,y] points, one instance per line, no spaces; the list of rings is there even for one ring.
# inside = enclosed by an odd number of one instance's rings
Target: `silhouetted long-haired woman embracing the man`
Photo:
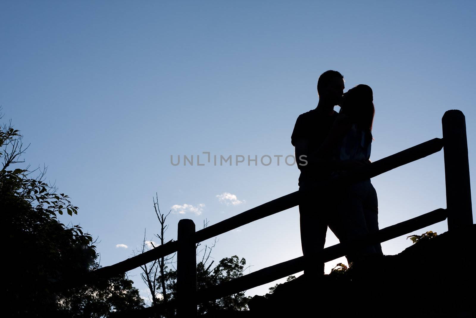
[[[369,164],[372,123],[375,114],[373,92],[360,84],[344,94],[341,111],[327,140],[319,149],[321,160],[337,176]],[[370,179],[337,190],[335,213],[329,226],[341,242],[378,231],[377,192]],[[335,229],[335,230],[334,230]],[[347,256],[349,262],[369,255],[382,255],[380,244],[360,249]]]

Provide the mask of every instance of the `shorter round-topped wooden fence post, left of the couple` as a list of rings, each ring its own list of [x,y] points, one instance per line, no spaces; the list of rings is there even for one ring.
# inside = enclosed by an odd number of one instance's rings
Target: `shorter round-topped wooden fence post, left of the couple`
[[[195,223],[189,219],[178,221],[177,251],[177,316],[197,316],[197,259],[195,251]]]

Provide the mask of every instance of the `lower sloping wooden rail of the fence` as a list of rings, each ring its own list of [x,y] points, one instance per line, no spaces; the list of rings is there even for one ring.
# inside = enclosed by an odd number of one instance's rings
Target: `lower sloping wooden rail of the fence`
[[[398,236],[408,234],[410,232],[419,230],[423,227],[430,226],[432,224],[444,221],[447,217],[446,209],[436,209],[428,212],[424,215],[420,215],[409,219],[407,221],[398,223],[393,226],[388,226],[379,230],[376,233],[364,236],[349,244],[336,244],[326,247],[320,252],[317,260],[320,258],[324,262],[329,262],[341,256],[345,256],[348,251],[354,248],[376,244],[391,240]],[[235,278],[226,283],[218,285],[217,287],[208,288],[205,290],[198,290],[197,304],[212,301],[228,295],[237,294],[243,290],[258,287],[277,279],[287,277],[289,275],[296,274],[304,269],[304,256],[300,256],[286,262],[282,262],[270,267],[260,269],[251,274],[247,274],[242,277]],[[128,312],[128,315],[133,317],[151,317],[153,313],[163,312],[166,308],[174,308],[176,302],[174,300],[169,301],[167,304],[160,304],[149,308],[138,309],[136,311]],[[130,317],[121,316],[118,317]]]

